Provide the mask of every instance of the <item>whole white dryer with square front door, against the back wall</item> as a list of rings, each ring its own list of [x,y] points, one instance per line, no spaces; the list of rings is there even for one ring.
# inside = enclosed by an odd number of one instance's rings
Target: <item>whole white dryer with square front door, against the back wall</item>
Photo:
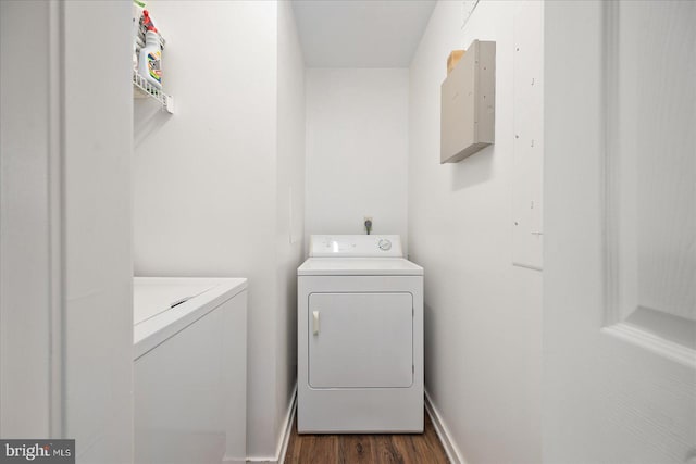
[[[423,431],[423,268],[395,235],[314,235],[309,256],[297,269],[298,431]]]

